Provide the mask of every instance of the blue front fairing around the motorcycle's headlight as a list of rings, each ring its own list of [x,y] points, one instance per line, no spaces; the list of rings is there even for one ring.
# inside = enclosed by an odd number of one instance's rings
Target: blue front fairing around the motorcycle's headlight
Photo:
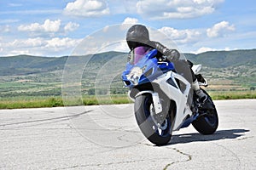
[[[137,64],[131,64],[128,62],[126,64],[126,69],[122,74],[122,79],[125,82],[125,86],[129,88],[133,88],[135,85],[140,85],[147,82],[152,82],[156,77],[166,73],[167,71],[174,71],[174,65],[172,62],[159,62],[158,59],[155,58],[157,54],[156,49],[150,50],[147,54],[140,59]],[[128,75],[131,73],[131,70],[134,68],[140,68],[142,70],[142,74],[138,78],[137,84],[131,81],[128,78]]]

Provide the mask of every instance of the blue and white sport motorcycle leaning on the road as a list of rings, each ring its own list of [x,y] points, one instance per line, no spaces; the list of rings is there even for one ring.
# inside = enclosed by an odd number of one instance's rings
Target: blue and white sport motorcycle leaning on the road
[[[131,51],[122,80],[134,101],[135,117],[143,135],[151,143],[163,145],[169,143],[173,131],[190,124],[199,133],[214,133],[218,113],[209,94],[201,88],[207,94],[207,104],[202,103],[174,63],[165,56],[155,57],[156,49],[150,48],[144,54],[136,51]],[[192,70],[200,86],[207,87],[207,80],[199,74],[201,65],[193,65]]]

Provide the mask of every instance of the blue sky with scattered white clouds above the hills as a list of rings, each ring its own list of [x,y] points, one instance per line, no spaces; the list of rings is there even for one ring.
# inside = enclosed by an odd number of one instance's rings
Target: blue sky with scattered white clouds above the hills
[[[161,42],[160,31],[183,53],[251,49],[255,23],[253,0],[0,0],[0,56],[63,56],[116,41],[107,47],[128,51],[125,24],[148,26]]]

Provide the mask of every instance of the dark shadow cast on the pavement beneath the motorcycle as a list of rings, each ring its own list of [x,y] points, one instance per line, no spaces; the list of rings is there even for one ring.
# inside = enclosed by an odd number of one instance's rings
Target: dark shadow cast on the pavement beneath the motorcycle
[[[203,135],[201,133],[185,133],[172,135],[171,142],[169,144],[187,144],[190,142],[201,142],[201,141],[215,141],[220,139],[237,139],[245,133],[249,132],[247,129],[228,129],[219,130],[216,133]]]

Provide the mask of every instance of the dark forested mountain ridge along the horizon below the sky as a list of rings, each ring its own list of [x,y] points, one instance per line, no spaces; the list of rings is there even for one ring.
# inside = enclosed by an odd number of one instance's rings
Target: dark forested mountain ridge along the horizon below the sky
[[[107,62],[114,56],[124,56],[125,53],[106,52],[96,54],[90,59],[91,62]],[[233,51],[212,51],[201,54],[184,54],[187,59],[194,63],[210,68],[226,68],[230,66],[255,66],[256,49],[233,50]],[[83,59],[88,56],[78,56]],[[38,57],[32,55],[16,55],[0,57],[0,76],[28,75],[39,72],[62,70],[67,61],[67,56],[63,57]]]

